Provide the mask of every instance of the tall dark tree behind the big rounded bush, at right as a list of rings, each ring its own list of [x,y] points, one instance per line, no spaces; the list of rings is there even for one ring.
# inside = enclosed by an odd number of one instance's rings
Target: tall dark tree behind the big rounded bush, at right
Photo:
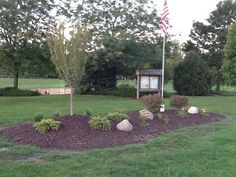
[[[216,69],[216,89],[220,90],[221,66],[224,59],[224,45],[229,26],[236,19],[236,1],[224,0],[217,4],[210,13],[207,23],[194,22],[191,30],[191,41],[199,48],[211,69]],[[190,44],[190,43],[189,43]],[[188,47],[191,47],[188,45]]]

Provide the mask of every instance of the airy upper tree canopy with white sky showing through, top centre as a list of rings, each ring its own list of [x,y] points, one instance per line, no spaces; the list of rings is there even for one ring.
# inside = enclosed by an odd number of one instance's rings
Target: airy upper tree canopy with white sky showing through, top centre
[[[150,0],[77,2],[76,19],[91,30],[97,44],[112,38],[155,42],[160,37],[160,18]]]

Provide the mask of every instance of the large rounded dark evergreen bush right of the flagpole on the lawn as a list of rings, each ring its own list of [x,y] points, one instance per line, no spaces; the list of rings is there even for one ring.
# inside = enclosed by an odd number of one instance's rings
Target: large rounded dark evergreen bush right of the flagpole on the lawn
[[[187,54],[174,69],[173,86],[179,95],[209,95],[211,74],[207,63],[194,52]]]

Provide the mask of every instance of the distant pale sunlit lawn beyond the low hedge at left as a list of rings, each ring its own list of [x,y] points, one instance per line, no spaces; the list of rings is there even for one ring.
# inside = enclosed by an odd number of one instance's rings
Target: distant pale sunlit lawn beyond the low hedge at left
[[[13,78],[0,78],[0,88],[12,87]],[[65,87],[65,82],[60,79],[19,79],[19,88],[61,88]]]

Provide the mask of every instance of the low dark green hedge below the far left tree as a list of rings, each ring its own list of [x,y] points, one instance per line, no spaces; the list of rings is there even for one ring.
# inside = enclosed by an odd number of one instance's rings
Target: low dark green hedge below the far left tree
[[[21,90],[13,87],[0,88],[0,96],[39,96],[36,91]]]

